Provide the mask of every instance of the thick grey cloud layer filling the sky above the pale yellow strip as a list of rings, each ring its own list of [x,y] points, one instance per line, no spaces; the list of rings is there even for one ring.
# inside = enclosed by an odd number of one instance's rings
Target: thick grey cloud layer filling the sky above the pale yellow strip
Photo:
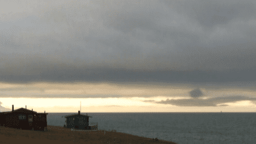
[[[256,81],[254,1],[118,2],[3,19],[0,81]]]

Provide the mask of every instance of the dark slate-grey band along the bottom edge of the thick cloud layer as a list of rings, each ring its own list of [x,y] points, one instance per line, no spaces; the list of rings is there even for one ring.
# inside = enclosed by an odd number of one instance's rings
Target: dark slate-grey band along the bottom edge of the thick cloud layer
[[[57,65],[56,65],[57,67]],[[38,71],[35,70],[35,71]],[[33,72],[33,71],[32,71]],[[55,68],[43,69],[37,75],[1,75],[2,82],[235,82],[255,81],[255,69],[229,72],[152,71],[151,69]]]

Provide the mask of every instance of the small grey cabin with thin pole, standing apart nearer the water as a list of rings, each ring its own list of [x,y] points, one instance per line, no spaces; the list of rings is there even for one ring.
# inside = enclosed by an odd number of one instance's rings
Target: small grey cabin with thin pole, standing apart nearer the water
[[[91,129],[89,126],[89,117],[90,116],[80,114],[80,111],[78,111],[78,114],[65,116],[66,127],[73,129]]]

